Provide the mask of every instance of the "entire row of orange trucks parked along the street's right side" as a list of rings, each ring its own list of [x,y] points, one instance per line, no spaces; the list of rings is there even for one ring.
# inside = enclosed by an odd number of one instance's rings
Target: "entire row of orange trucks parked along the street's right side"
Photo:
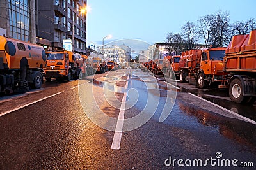
[[[154,74],[163,74],[200,88],[212,84],[227,88],[236,103],[256,100],[256,30],[236,35],[227,48],[204,48],[144,63]]]

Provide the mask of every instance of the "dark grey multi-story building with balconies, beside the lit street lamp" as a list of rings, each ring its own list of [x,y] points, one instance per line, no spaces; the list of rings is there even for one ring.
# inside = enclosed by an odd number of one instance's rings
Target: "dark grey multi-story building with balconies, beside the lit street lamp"
[[[72,50],[86,53],[86,0],[36,1],[36,39],[48,50],[61,50],[63,39],[72,40]],[[51,49],[54,48],[54,49]]]

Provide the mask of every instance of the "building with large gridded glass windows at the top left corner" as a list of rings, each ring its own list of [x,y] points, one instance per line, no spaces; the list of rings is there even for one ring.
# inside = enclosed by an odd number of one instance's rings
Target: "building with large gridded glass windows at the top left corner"
[[[1,35],[36,42],[35,0],[1,0],[0,19]]]

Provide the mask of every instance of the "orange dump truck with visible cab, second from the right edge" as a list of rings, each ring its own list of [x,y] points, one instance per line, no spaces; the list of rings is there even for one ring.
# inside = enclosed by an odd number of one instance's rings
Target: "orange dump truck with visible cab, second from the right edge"
[[[223,58],[226,49],[205,48],[182,52],[179,62],[180,81],[195,83],[200,88],[205,88],[214,82],[224,85],[227,73],[223,71]]]

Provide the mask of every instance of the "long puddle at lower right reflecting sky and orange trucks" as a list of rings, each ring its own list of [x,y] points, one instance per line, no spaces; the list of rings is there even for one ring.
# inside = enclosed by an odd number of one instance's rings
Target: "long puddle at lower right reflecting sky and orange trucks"
[[[255,125],[200,110],[196,106],[179,100],[176,100],[170,117],[164,123],[180,129],[199,132],[198,136],[204,134],[201,131],[209,135],[212,133],[220,134],[240,145],[248,146],[253,152],[256,152]],[[214,138],[219,139],[220,137]]]

